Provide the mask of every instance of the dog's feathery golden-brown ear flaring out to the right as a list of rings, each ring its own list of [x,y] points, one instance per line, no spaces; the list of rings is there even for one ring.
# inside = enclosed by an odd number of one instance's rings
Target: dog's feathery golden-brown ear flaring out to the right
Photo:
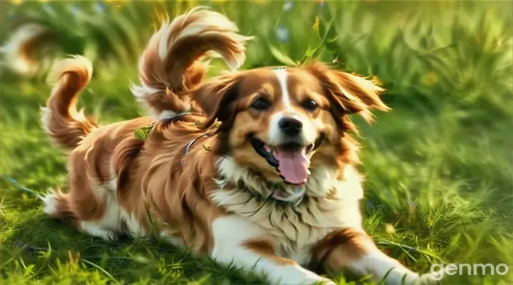
[[[321,82],[324,93],[333,104],[333,115],[338,118],[358,113],[370,122],[373,119],[371,110],[390,110],[379,98],[383,88],[373,80],[337,71],[318,62],[309,63],[306,69]]]

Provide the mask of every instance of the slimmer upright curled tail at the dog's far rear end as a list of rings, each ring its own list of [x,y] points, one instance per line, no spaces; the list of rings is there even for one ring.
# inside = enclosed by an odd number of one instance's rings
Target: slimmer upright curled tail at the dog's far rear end
[[[93,68],[90,61],[74,56],[58,61],[50,74],[57,81],[46,107],[41,108],[41,122],[50,138],[62,147],[73,149],[78,142],[98,125],[86,118],[83,110],[75,108],[78,93],[90,81]]]

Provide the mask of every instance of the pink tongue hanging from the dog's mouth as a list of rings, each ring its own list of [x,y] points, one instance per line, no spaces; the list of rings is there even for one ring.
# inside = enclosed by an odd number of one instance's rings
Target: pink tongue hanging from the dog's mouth
[[[286,182],[303,184],[310,175],[310,160],[306,158],[305,150],[274,152],[279,161],[279,172]]]

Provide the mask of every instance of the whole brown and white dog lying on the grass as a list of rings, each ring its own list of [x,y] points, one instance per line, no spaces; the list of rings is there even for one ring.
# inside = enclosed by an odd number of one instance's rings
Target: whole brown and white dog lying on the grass
[[[271,284],[333,284],[306,268],[348,269],[387,284],[429,281],[380,252],[362,229],[348,115],[388,110],[381,89],[323,63],[203,81],[202,58],[215,51],[238,68],[249,39],[201,7],[163,24],[132,88],[154,116],[105,126],[75,108],[89,61],[61,61],[42,121],[53,142],[71,150],[70,185],[46,196],[44,212],[103,239],[157,231]],[[143,127],[149,135],[136,138]]]

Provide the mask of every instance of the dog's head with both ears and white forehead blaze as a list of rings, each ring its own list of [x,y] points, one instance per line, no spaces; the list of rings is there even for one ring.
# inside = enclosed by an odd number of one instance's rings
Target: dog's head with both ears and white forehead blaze
[[[386,110],[380,88],[321,63],[257,68],[203,83],[194,98],[222,122],[222,155],[231,155],[270,182],[303,185],[310,169],[334,165],[347,152],[348,115]]]

